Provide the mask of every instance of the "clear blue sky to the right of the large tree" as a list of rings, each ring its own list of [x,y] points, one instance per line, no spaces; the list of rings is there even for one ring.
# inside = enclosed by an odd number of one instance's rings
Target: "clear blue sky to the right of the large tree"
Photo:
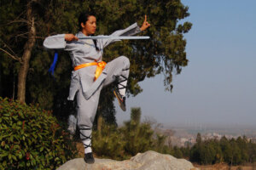
[[[256,1],[182,0],[192,29],[184,35],[189,64],[173,77],[172,93],[163,75],[139,82],[143,93],[117,110],[119,125],[140,107],[165,127],[256,127]],[[150,23],[150,16],[148,16]],[[150,23],[154,25],[154,23]]]

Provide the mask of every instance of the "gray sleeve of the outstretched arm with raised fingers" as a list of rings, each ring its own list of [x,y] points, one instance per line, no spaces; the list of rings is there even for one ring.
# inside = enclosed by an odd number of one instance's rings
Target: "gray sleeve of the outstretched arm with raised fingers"
[[[140,27],[137,26],[137,23],[125,28],[124,30],[114,31],[110,36],[119,37],[119,36],[133,36],[137,33],[141,32]],[[120,40],[113,40],[113,39],[101,39],[102,47],[105,48],[108,44],[112,42],[118,42]]]

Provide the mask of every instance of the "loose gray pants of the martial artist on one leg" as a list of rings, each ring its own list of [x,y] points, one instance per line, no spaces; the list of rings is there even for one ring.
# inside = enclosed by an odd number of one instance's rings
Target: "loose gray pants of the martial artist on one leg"
[[[82,89],[79,89],[77,94],[77,111],[78,111],[78,126],[80,131],[80,138],[84,143],[85,152],[90,152],[91,145],[91,128],[93,126],[94,118],[96,116],[97,106],[99,103],[99,98],[101,94],[101,90],[103,87],[107,86],[111,82],[123,81],[124,78],[128,78],[129,76],[129,67],[130,61],[125,56],[120,56],[112,61],[108,62],[105,67],[105,71],[107,72],[107,77],[102,82],[102,85],[97,88],[95,94],[93,94],[90,99],[85,99]],[[89,147],[89,151],[86,151]]]

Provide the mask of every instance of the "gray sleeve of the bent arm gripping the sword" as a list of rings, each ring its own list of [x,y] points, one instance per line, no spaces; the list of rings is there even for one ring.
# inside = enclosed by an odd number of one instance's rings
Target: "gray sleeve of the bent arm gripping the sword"
[[[44,40],[44,48],[46,49],[65,49],[66,45],[65,34],[46,37]]]

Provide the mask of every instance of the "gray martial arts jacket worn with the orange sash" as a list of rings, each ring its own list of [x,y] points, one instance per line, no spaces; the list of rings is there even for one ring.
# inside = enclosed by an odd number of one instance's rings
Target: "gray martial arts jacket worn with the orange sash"
[[[127,27],[124,30],[114,31],[110,36],[132,36],[140,32],[137,23]],[[76,37],[85,37],[84,34],[79,31]],[[113,39],[98,39],[97,47],[100,49],[96,51],[95,45],[91,39],[80,39],[79,41],[66,42],[65,34],[58,34],[51,37],[46,37],[44,40],[44,48],[47,49],[63,49],[68,51],[70,58],[73,62],[73,67],[90,62],[102,61],[103,48],[107,47],[109,43],[119,40]],[[96,89],[102,84],[107,77],[105,71],[94,82],[96,71],[96,65],[84,67],[77,71],[72,71],[71,84],[69,88],[68,100],[73,100],[76,92],[81,87],[85,99],[89,99]]]

